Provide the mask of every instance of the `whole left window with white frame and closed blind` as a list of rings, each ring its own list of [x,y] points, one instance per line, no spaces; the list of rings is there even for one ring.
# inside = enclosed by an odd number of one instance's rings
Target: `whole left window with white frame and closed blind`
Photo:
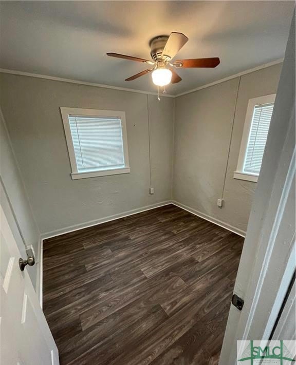
[[[72,179],[131,172],[124,111],[62,108]]]

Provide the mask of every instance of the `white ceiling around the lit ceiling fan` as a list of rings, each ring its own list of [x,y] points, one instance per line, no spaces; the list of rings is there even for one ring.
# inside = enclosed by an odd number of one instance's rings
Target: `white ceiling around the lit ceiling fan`
[[[182,32],[177,58],[220,57],[214,69],[178,70],[178,94],[284,56],[293,1],[1,1],[0,67],[144,91],[147,68],[106,52],[150,57],[149,40]]]

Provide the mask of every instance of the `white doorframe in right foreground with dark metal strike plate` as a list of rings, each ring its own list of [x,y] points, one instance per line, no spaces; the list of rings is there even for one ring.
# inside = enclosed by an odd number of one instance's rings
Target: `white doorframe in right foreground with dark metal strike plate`
[[[230,306],[219,365],[236,364],[237,340],[271,338],[295,270],[294,82],[295,16],[234,286],[245,304],[242,311]],[[290,325],[289,333],[295,332],[294,323]],[[276,329],[274,334],[287,331]]]

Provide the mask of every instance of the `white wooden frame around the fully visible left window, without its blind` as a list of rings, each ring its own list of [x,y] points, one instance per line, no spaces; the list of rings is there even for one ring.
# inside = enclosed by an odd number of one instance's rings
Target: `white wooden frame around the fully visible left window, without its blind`
[[[124,111],[115,110],[99,110],[99,109],[85,109],[85,108],[68,108],[60,107],[66,143],[68,148],[69,160],[71,165],[71,178],[72,180],[93,178],[98,176],[109,176],[118,174],[129,174],[131,172],[130,162],[128,160],[128,147],[127,147],[127,132],[126,132],[126,121]],[[75,151],[73,146],[73,140],[70,129],[69,115],[85,116],[85,117],[115,117],[120,118],[122,128],[122,144],[123,144],[123,156],[124,156],[124,167],[114,169],[101,169],[94,171],[78,171]]]

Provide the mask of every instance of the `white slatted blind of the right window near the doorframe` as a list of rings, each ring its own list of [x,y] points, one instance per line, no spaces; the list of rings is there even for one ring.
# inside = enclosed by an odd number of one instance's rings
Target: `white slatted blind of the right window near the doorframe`
[[[260,172],[272,111],[273,103],[254,107],[244,172],[251,174],[259,174]]]

